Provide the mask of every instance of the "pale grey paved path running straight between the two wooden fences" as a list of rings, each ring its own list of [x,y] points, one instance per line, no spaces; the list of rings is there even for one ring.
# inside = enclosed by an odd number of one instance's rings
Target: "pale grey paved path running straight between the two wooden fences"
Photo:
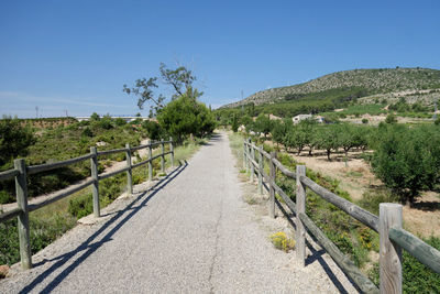
[[[38,252],[0,293],[338,292],[321,263],[299,271],[273,248],[234,162],[228,138],[213,138],[154,188],[119,200],[123,209]]]

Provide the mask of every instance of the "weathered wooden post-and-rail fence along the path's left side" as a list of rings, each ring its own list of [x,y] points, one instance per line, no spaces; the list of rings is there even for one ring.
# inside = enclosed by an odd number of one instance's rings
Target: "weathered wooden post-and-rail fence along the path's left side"
[[[169,144],[169,151],[165,152],[165,144]],[[161,153],[153,156],[153,148],[161,145]],[[131,155],[132,152],[141,150],[141,149],[148,149],[148,159],[135,164],[132,164]],[[98,157],[102,155],[109,155],[114,153],[125,153],[127,166],[120,168],[114,172],[109,172],[105,174],[98,174]],[[170,154],[170,163],[174,166],[174,146],[173,146],[173,139],[169,138],[169,141],[158,141],[158,142],[151,142],[148,141],[145,145],[139,146],[130,146],[130,144],[125,144],[123,149],[116,149],[116,150],[106,150],[99,151],[96,146],[90,148],[90,154],[82,155],[79,157],[55,162],[55,163],[47,163],[41,165],[32,165],[26,166],[23,159],[19,159],[14,161],[14,168],[9,170],[6,172],[0,173],[0,181],[6,181],[10,178],[15,178],[15,193],[16,193],[16,204],[18,207],[11,209],[9,211],[0,214],[0,222],[7,221],[13,217],[18,217],[18,230],[19,230],[19,239],[20,239],[20,258],[21,258],[21,265],[23,269],[31,269],[32,268],[32,252],[31,252],[31,244],[30,244],[30,227],[29,227],[29,213],[42,208],[48,204],[57,202],[64,197],[67,197],[80,189],[84,189],[88,186],[92,186],[92,202],[94,202],[94,215],[95,217],[100,217],[100,207],[99,207],[99,181],[108,178],[110,176],[114,176],[119,173],[127,172],[127,190],[129,194],[133,193],[133,182],[132,182],[132,170],[144,164],[148,164],[148,181],[153,179],[153,161],[156,159],[161,159],[161,171],[165,172],[165,155]],[[46,198],[42,202],[35,204],[28,204],[28,179],[26,176],[30,174],[36,174],[42,172],[47,172],[51,170],[68,166],[81,161],[90,160],[91,165],[91,178],[78,184],[73,185],[66,189],[59,190],[55,195]]]

